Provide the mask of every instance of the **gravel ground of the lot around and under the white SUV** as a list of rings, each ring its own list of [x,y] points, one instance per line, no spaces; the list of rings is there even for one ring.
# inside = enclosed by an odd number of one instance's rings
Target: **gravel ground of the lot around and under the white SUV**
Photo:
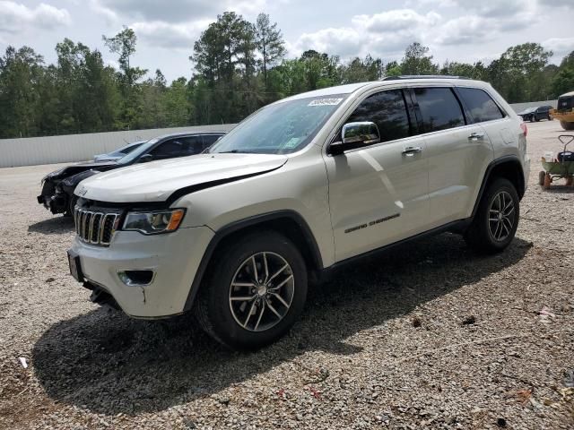
[[[528,126],[507,252],[401,246],[313,289],[290,335],[250,354],[187,316],[92,305],[67,274],[71,221],[35,202],[56,166],[0,169],[0,427],[574,428],[574,189],[536,185],[562,132]]]

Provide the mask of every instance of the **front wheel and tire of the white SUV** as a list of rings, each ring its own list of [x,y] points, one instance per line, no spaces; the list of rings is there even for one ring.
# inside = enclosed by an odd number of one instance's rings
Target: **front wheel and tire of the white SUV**
[[[229,348],[261,348],[299,319],[307,268],[297,247],[274,231],[248,234],[214,254],[196,301],[196,319]]]

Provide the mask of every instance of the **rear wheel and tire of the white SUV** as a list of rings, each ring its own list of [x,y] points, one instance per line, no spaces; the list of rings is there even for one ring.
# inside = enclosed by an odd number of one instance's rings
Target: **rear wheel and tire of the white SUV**
[[[508,179],[499,177],[483,193],[465,233],[466,244],[483,254],[500,253],[514,239],[519,218],[517,190]]]

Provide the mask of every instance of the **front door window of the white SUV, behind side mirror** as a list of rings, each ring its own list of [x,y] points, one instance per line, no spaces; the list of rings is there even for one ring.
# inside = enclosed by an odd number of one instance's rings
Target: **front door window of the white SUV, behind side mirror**
[[[378,126],[381,142],[411,135],[403,90],[378,92],[364,99],[346,123],[370,121]]]

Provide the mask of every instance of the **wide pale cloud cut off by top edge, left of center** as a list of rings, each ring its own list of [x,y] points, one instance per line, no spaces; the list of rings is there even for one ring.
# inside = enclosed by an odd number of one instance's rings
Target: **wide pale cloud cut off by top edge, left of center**
[[[92,9],[104,16],[138,22],[196,22],[214,19],[223,11],[252,14],[262,11],[265,0],[91,0]]]

